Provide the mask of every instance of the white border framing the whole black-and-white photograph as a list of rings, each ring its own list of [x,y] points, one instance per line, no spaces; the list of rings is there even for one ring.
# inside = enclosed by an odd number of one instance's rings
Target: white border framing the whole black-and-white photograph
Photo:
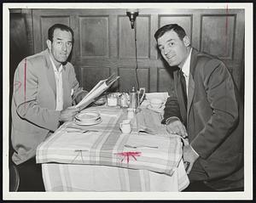
[[[243,8],[245,10],[244,192],[9,192],[9,8]],[[3,3],[3,200],[253,200],[253,3]]]

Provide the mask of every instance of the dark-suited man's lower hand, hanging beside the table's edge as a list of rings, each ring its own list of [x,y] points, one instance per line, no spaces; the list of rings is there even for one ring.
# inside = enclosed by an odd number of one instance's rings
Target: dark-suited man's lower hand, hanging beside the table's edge
[[[195,161],[198,159],[199,155],[196,155],[195,151],[192,149],[190,145],[183,146],[183,162],[187,164],[187,173],[191,171]]]

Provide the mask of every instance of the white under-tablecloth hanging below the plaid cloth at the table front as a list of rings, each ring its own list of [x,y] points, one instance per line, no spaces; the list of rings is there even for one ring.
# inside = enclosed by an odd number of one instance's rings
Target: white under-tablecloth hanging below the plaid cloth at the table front
[[[46,191],[177,192],[189,185],[183,163],[172,176],[113,166],[42,164]]]

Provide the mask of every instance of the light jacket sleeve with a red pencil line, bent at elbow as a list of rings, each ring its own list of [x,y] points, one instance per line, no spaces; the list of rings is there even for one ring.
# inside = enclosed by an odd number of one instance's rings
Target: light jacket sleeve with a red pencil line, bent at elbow
[[[60,111],[38,104],[38,76],[28,59],[23,59],[15,70],[14,88],[16,111],[22,119],[53,132],[59,127]]]

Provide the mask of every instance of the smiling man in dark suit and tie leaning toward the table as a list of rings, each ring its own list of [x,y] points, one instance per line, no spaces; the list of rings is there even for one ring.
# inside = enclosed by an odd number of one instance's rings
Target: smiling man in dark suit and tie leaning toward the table
[[[187,190],[242,190],[243,113],[229,70],[219,59],[191,48],[177,24],[161,27],[154,37],[173,67],[174,94],[162,123],[169,133],[189,139],[183,146],[191,183]]]

